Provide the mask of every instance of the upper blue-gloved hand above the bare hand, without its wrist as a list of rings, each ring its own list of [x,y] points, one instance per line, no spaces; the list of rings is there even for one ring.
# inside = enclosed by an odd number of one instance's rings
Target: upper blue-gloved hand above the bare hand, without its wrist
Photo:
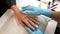
[[[26,14],[30,14],[30,15],[40,15],[40,11],[38,10],[40,9],[32,5],[22,7],[22,11],[25,11]]]

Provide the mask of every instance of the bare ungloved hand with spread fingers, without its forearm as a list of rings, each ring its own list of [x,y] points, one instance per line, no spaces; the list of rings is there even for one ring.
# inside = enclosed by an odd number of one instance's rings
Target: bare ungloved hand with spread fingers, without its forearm
[[[32,15],[27,15],[24,13],[21,13],[21,15],[19,15],[18,18],[18,22],[23,26],[23,27],[30,27],[31,29],[38,27],[37,26],[37,17],[36,16],[32,16]]]

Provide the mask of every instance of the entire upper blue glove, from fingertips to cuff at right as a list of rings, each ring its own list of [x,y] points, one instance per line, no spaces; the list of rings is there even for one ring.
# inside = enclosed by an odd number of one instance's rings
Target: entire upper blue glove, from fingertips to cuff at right
[[[42,8],[38,8],[32,5],[28,5],[25,7],[22,7],[22,11],[25,11],[27,14],[32,14],[32,15],[45,15],[50,17],[51,15],[51,10],[49,9],[42,9]]]

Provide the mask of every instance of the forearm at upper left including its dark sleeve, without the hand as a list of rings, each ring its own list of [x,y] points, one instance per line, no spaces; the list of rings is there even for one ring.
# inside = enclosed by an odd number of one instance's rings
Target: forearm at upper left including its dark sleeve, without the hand
[[[16,0],[5,0],[5,3],[14,11],[16,16],[20,17],[19,15],[21,15],[21,11],[16,6]]]

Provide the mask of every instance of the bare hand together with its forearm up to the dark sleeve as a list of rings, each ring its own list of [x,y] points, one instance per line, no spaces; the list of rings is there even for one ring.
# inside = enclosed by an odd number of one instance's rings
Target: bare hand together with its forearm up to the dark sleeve
[[[23,14],[21,12],[21,10],[19,10],[17,8],[16,5],[12,5],[11,9],[13,9],[14,13],[17,16],[17,20],[18,22],[23,26],[23,27],[30,27],[31,29],[33,29],[34,27],[37,27],[37,25],[35,24],[38,20],[36,16],[32,16],[32,15],[27,15],[27,14]],[[30,19],[32,18],[32,19]]]

